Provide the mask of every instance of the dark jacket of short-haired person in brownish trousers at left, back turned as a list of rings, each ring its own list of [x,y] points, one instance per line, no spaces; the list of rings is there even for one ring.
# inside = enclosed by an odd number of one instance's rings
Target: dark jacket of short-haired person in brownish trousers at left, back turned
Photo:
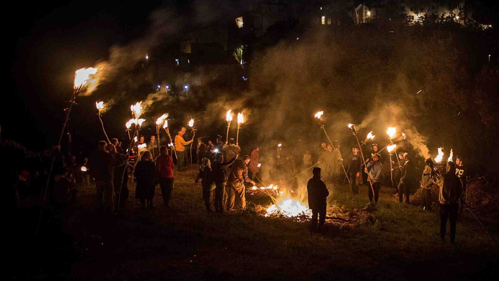
[[[90,172],[96,181],[112,181],[115,166],[121,164],[120,160],[104,149],[99,149],[90,157]]]

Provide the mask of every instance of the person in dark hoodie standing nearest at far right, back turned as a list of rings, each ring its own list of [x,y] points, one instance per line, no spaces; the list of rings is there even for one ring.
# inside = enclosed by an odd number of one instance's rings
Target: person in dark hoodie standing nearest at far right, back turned
[[[447,162],[446,170],[447,172],[443,174],[432,174],[432,180],[440,187],[438,195],[440,202],[440,238],[445,239],[447,219],[449,219],[451,242],[455,243],[459,196],[463,192],[463,185],[456,175],[456,164],[454,162]]]

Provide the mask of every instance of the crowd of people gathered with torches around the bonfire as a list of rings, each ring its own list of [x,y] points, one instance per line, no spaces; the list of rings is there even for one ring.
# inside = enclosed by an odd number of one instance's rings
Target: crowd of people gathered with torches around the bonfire
[[[103,212],[113,212],[125,207],[129,201],[130,178],[136,182],[135,198],[140,200],[142,208],[154,208],[154,194],[158,184],[163,203],[170,206],[174,189],[174,167],[177,166],[178,172],[185,171],[188,159],[186,146],[194,142],[194,134],[192,139],[185,140],[185,133],[186,128],[181,128],[175,136],[175,142],[170,142],[168,146],[160,145],[155,135],[151,135],[148,142],[145,142],[144,136],[140,136],[131,145],[129,153],[128,149],[123,150],[116,138],[109,143],[100,141],[98,150],[90,158],[83,157],[79,161],[75,155],[66,161],[58,146],[46,149],[43,153],[34,153],[2,139],[2,146],[13,147],[11,150],[16,151],[13,153],[22,155],[24,161],[36,162],[32,165],[36,168],[6,170],[10,173],[7,177],[10,179],[9,184],[13,186],[11,191],[15,198],[14,205],[20,205],[24,198],[32,195],[30,192],[40,194],[44,190],[43,185],[47,181],[44,176],[48,176],[48,163],[53,159],[53,172],[47,185],[49,204],[52,206],[61,208],[70,204],[77,195],[77,186],[88,186],[92,181],[96,188],[97,208]],[[258,177],[261,168],[260,147],[252,149],[250,155],[241,156],[242,149],[233,138],[224,142],[218,136],[216,143],[211,140],[205,143],[201,137],[196,140],[195,157],[199,167],[196,182],[201,180],[206,210],[233,211],[236,209],[236,201],[239,201],[240,210],[246,209],[247,187],[261,183]],[[366,185],[370,201],[366,208],[373,209],[377,207],[382,185],[396,190],[401,203],[404,195],[405,202],[409,203],[411,194],[419,185],[421,205],[426,210],[432,208],[432,186],[439,186],[442,237],[445,236],[444,221],[449,219],[451,240],[454,241],[457,212],[460,209],[459,197],[466,190],[466,169],[462,157],[458,156],[455,163],[448,162],[447,168],[441,168],[439,172],[426,162],[419,179],[418,174],[421,174],[423,168],[421,162],[414,160],[409,152],[399,151],[396,155],[382,153],[376,143],[371,145],[369,151],[361,151],[358,145],[352,145],[351,153],[343,157],[339,143],[336,142],[333,146],[333,143],[322,142],[314,154],[310,152],[311,149],[306,149],[299,156],[302,161],[295,160],[298,158],[296,153],[286,151],[284,147],[282,142],[274,140],[265,146],[265,160],[270,162],[266,166],[270,170],[268,174],[285,174],[283,177],[293,178],[298,168],[306,171],[313,167],[313,177],[307,183],[313,228],[321,228],[324,223],[328,195],[326,184],[348,183],[354,196],[359,194],[360,185]],[[14,154],[12,157],[15,158]],[[36,191],[32,188],[35,185],[38,185]]]

